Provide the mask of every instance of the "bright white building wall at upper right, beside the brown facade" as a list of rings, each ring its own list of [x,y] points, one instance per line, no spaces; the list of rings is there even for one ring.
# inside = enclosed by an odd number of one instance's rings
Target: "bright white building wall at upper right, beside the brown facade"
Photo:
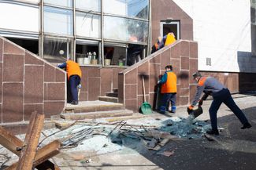
[[[256,72],[256,59],[250,57],[250,0],[173,2],[193,19],[198,70]],[[206,58],[211,58],[211,66],[206,66]]]

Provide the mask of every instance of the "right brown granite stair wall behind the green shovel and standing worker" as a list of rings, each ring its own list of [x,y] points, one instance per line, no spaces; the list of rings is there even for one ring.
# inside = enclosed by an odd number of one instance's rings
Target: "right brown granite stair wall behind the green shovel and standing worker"
[[[176,105],[189,104],[190,97],[190,63],[197,62],[197,58],[193,56],[192,60],[190,55],[189,41],[177,41],[173,45],[169,45],[160,49],[158,52],[154,52],[150,56],[147,56],[139,63],[135,63],[132,67],[128,67],[126,70],[119,74],[119,89],[122,88],[122,92],[119,93],[119,101],[123,101],[124,106],[134,111],[139,110],[139,105],[143,102],[143,83],[142,76],[145,81],[145,94],[147,101],[152,107],[155,107],[157,82],[159,76],[165,73],[165,66],[168,64],[173,65],[173,71],[177,75],[177,99]],[[193,44],[193,48],[197,45]],[[185,49],[181,49],[185,48]],[[197,64],[195,67],[191,67],[197,70]],[[123,80],[123,81],[121,81]],[[192,82],[193,84],[194,82]],[[123,97],[121,97],[121,94]]]

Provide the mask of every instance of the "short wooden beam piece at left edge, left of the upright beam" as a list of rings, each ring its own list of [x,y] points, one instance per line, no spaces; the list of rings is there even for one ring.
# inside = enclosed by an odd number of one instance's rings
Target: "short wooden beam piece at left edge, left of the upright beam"
[[[12,132],[2,128],[2,126],[0,126],[0,144],[17,155],[20,155],[20,150],[17,150],[17,148],[23,146],[23,142],[20,139],[14,136]]]

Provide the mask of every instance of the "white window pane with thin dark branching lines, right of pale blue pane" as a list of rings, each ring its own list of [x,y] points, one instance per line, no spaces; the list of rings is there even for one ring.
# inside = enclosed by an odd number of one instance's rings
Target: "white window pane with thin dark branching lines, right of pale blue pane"
[[[100,38],[101,16],[76,13],[76,34],[84,37]]]

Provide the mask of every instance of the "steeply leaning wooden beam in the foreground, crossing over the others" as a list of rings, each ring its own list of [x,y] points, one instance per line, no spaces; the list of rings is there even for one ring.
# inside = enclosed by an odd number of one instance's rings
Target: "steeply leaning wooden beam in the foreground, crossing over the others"
[[[44,114],[38,114],[36,111],[32,113],[28,132],[24,139],[24,146],[17,164],[17,170],[32,169],[39,137],[43,129],[43,121]]]

